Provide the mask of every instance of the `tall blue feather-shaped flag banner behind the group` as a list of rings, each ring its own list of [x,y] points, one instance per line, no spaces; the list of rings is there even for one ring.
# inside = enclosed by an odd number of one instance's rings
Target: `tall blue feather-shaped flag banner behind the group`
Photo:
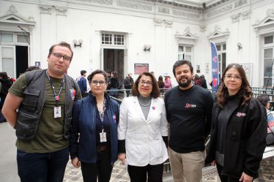
[[[218,53],[214,42],[210,41],[212,58],[212,90],[218,90],[219,86],[219,68]]]

